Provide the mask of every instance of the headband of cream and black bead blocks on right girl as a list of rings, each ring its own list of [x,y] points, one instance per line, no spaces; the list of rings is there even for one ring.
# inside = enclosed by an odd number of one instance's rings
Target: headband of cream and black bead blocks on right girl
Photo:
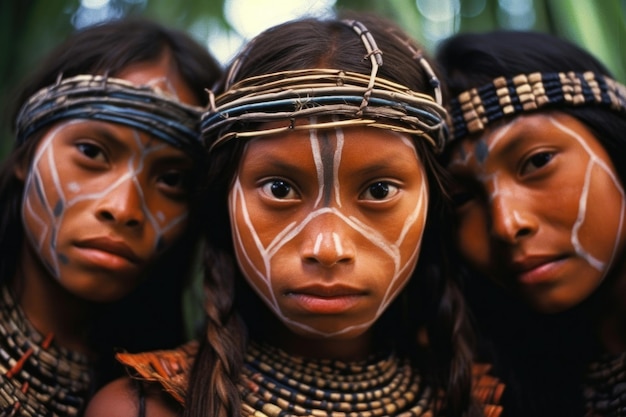
[[[626,115],[626,86],[594,72],[499,77],[450,102],[452,139],[481,132],[495,120],[554,106],[602,106]]]

